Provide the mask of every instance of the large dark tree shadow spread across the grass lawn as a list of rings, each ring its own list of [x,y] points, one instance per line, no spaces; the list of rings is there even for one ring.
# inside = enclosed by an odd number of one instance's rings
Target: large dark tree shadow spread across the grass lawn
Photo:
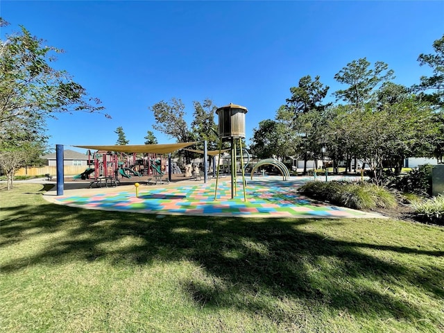
[[[6,218],[1,226],[1,246],[51,235],[43,250],[11,259],[0,267],[3,274],[38,264],[57,266],[78,260],[138,266],[158,259],[187,259],[205,271],[200,278],[181,282],[182,292],[196,304],[260,311],[276,320],[284,314],[273,307],[273,302],[256,297],[259,293],[275,300],[298,300],[307,307],[323,305],[360,315],[370,312],[418,320],[426,309],[359,281],[396,287],[408,283],[435,298],[444,297],[442,287],[435,283],[444,280],[443,267],[411,268],[366,255],[361,249],[432,257],[443,256],[443,251],[326,239],[304,231],[303,226],[314,223],[313,219],[158,219],[155,215],[83,210],[50,203],[6,207],[3,214]],[[137,242],[124,247],[110,245],[126,237],[135,237]]]

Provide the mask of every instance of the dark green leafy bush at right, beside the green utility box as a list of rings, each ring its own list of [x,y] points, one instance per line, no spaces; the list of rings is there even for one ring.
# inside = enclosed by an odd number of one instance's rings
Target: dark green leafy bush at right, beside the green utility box
[[[407,175],[388,176],[385,178],[387,187],[404,193],[432,195],[432,166],[425,164],[418,169],[411,169]]]

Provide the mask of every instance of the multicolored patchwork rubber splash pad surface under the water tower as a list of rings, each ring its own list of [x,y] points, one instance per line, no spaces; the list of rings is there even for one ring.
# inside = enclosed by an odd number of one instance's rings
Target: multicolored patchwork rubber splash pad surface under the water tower
[[[136,196],[134,186],[112,189],[84,189],[66,191],[64,196],[48,197],[62,205],[94,210],[114,210],[146,214],[186,214],[200,216],[239,217],[382,217],[345,207],[336,207],[311,200],[298,193],[298,187],[313,178],[266,176],[248,179],[246,202],[241,180],[237,182],[237,196],[231,198],[230,178],[212,182],[177,182],[168,186],[141,185]],[[69,193],[67,193],[69,192]]]

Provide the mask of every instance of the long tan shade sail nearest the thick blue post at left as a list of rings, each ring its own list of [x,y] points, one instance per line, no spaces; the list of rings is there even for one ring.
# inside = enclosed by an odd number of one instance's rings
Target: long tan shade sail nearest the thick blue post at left
[[[96,151],[119,151],[121,153],[155,153],[168,154],[173,151],[197,144],[197,142],[179,142],[178,144],[127,144],[114,146],[74,146],[78,148],[94,149]]]

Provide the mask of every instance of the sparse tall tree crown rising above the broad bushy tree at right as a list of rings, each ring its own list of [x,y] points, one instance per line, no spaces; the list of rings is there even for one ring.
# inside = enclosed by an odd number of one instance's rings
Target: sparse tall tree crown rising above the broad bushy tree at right
[[[348,85],[348,88],[334,92],[334,96],[338,101],[341,99],[355,108],[361,108],[364,103],[370,101],[379,84],[394,78],[393,73],[382,61],[375,62],[371,69],[366,58],[353,60],[334,75],[336,81]]]

